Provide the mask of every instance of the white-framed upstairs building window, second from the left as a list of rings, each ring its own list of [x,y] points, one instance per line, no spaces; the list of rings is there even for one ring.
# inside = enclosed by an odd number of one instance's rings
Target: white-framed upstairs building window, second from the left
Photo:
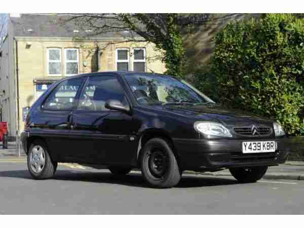
[[[65,49],[65,75],[70,76],[79,73],[78,49]]]

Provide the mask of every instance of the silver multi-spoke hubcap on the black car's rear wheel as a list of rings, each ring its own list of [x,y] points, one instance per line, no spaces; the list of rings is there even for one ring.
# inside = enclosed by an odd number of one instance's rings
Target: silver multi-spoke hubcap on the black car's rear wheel
[[[30,153],[29,165],[33,172],[40,173],[46,163],[45,151],[40,145],[35,145]]]

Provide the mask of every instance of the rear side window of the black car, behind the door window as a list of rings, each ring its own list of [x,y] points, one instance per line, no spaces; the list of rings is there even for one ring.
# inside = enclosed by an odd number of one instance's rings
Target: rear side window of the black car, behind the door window
[[[61,82],[49,95],[43,108],[49,110],[71,110],[77,105],[76,95],[83,78],[69,79]]]

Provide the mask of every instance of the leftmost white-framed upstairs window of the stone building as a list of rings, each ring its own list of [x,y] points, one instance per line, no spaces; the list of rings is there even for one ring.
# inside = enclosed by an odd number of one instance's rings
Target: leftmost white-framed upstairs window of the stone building
[[[61,49],[48,49],[48,73],[49,75],[61,76]]]

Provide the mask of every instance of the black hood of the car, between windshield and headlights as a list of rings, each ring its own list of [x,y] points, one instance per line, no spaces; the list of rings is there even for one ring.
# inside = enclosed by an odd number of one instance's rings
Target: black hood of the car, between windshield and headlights
[[[252,113],[224,107],[218,104],[208,105],[160,105],[156,108],[191,118],[194,121],[212,121],[226,126],[272,126],[274,120],[253,115]]]

